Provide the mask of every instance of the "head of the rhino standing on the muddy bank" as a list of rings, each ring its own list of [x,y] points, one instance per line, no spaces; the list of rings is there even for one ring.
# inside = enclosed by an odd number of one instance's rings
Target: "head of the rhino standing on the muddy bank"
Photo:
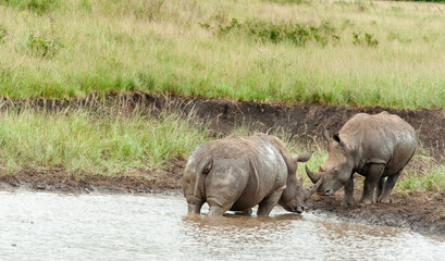
[[[327,141],[327,161],[320,166],[319,172],[311,172],[306,166],[306,173],[313,184],[321,182],[319,190],[324,195],[333,195],[348,182],[354,167],[353,152],[348,146],[341,140],[338,134],[331,135],[325,129],[323,138]]]

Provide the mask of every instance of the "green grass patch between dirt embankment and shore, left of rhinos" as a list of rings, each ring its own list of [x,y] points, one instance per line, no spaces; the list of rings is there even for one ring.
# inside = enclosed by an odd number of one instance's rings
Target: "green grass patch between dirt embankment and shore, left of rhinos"
[[[3,172],[63,167],[67,173],[129,175],[187,158],[206,141],[206,127],[166,111],[133,115],[86,111],[0,114]]]

